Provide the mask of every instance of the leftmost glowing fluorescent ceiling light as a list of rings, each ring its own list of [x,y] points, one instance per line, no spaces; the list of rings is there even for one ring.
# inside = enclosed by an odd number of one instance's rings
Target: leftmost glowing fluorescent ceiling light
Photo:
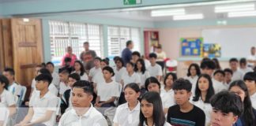
[[[166,17],[174,15],[184,15],[185,9],[158,9],[151,11],[151,17]]]

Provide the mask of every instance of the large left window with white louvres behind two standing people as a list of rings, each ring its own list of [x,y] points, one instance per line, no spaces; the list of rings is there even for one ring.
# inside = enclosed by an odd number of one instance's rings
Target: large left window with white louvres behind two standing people
[[[49,26],[51,61],[56,65],[60,65],[67,46],[72,46],[73,54],[80,58],[84,50],[83,43],[86,41],[90,44],[90,50],[95,50],[99,57],[104,55],[101,25],[51,20]]]

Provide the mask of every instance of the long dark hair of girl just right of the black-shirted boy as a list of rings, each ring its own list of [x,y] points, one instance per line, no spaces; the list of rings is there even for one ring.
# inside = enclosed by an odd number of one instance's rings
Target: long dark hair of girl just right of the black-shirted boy
[[[195,96],[193,98],[193,101],[197,102],[199,100],[199,98],[201,97],[201,91],[198,87],[198,83],[199,83],[199,80],[202,77],[206,78],[209,81],[209,88],[207,90],[207,94],[206,94],[206,97],[205,97],[205,103],[210,103],[210,98],[212,98],[212,96],[214,95],[214,89],[213,89],[213,81],[211,79],[211,76],[209,76],[208,74],[201,74],[201,76],[198,77],[196,89],[194,91]]]

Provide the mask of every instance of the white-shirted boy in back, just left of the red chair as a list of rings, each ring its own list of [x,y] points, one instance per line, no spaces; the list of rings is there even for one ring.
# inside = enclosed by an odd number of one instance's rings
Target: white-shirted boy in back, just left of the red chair
[[[150,66],[148,68],[149,75],[156,77],[157,80],[160,81],[161,76],[163,76],[163,71],[160,65],[156,64],[156,54],[151,53],[149,54],[149,61],[150,61]]]

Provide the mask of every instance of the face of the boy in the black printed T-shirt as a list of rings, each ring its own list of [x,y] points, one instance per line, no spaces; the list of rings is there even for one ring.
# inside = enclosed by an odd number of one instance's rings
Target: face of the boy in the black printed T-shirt
[[[180,106],[184,105],[186,102],[189,101],[191,92],[183,90],[175,90],[175,102]]]

